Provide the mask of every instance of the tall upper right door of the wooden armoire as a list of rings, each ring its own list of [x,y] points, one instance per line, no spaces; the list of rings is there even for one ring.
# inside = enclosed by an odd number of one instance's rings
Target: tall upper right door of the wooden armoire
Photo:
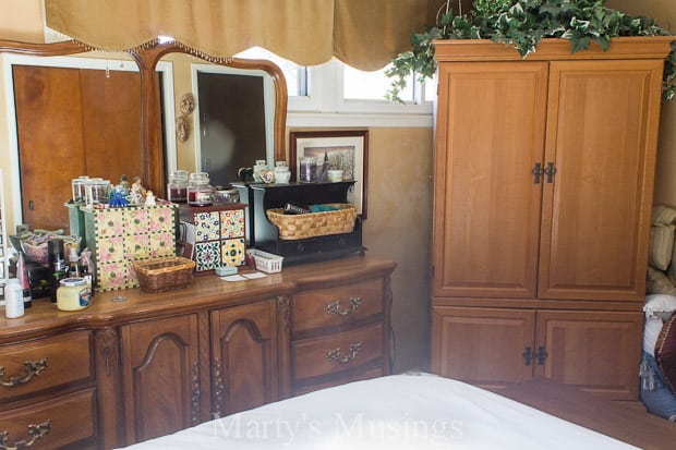
[[[554,61],[550,80],[556,174],[544,184],[539,296],[642,301],[662,61]]]

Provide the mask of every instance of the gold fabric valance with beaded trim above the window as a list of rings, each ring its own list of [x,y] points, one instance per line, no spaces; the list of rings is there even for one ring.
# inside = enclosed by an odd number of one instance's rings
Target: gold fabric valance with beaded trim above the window
[[[47,26],[104,50],[158,36],[212,57],[264,47],[301,65],[336,56],[377,70],[409,48],[443,0],[45,0]]]

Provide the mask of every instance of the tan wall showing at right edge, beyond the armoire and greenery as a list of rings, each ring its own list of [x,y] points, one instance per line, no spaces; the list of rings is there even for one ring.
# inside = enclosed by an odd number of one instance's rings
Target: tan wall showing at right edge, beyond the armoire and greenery
[[[669,31],[676,27],[676,0],[611,0],[607,7],[653,17]],[[654,203],[676,206],[676,99],[662,106]]]

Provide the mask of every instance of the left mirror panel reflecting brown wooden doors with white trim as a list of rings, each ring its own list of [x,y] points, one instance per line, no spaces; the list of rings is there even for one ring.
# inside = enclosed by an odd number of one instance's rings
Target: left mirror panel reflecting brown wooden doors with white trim
[[[3,59],[23,222],[67,229],[71,180],[141,174],[141,78],[129,58]]]

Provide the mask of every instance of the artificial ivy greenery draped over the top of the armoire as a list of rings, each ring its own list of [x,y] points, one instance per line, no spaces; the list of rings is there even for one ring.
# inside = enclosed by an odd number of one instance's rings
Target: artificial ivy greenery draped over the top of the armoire
[[[411,35],[411,50],[398,54],[386,75],[391,78],[387,98],[402,102],[406,77],[420,81],[435,72],[434,40],[492,39],[514,45],[522,58],[535,51],[542,38],[570,39],[571,51],[584,50],[593,41],[607,50],[617,36],[669,35],[654,20],[631,16],[605,7],[605,0],[475,0],[469,14],[442,14],[439,23]],[[676,44],[664,64],[663,99],[676,94]]]

